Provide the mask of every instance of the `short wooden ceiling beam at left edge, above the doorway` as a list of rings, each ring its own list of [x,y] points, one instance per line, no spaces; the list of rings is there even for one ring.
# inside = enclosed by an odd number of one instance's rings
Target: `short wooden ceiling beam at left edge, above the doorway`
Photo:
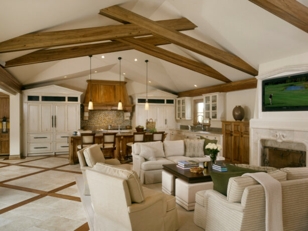
[[[7,70],[0,66],[0,88],[11,93],[21,93],[22,84]]]

